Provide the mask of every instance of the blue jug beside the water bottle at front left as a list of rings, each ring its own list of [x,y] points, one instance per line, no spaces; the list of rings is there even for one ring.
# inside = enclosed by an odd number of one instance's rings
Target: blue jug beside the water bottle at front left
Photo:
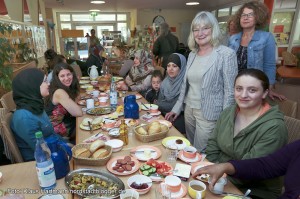
[[[70,171],[71,148],[57,135],[51,135],[45,141],[51,151],[56,179],[65,177]]]

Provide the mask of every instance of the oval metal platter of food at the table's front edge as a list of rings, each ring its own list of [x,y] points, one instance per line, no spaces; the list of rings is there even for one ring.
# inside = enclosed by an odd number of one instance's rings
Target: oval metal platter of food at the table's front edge
[[[70,193],[82,197],[118,198],[122,191],[125,190],[125,185],[120,178],[95,169],[71,171],[65,177],[65,184]]]

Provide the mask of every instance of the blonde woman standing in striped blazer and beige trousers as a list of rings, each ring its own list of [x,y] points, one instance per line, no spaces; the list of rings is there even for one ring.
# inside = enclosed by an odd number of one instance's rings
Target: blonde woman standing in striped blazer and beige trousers
[[[200,152],[220,113],[234,103],[237,59],[232,49],[220,45],[221,38],[216,18],[210,12],[199,12],[191,24],[188,45],[192,52],[180,96],[165,116],[174,121],[184,109],[187,138]]]

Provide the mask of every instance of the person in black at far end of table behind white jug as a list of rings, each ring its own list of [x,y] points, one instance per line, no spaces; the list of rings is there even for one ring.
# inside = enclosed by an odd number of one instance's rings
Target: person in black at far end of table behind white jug
[[[101,75],[102,66],[105,61],[105,58],[102,57],[103,52],[104,52],[104,48],[101,45],[96,45],[92,47],[91,54],[89,55],[89,57],[85,62],[85,68],[81,68],[83,76],[88,76],[88,69],[92,65],[97,66],[98,74]]]

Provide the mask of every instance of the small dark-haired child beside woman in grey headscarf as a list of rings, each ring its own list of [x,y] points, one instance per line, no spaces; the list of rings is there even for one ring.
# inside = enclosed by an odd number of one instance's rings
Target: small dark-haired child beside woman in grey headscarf
[[[161,72],[159,70],[155,70],[152,73],[152,77],[151,77],[151,85],[152,87],[150,89],[148,89],[144,96],[145,99],[153,104],[156,103],[156,100],[158,99],[158,94],[159,94],[159,88],[160,88],[160,84],[163,80],[163,76],[161,74]]]

